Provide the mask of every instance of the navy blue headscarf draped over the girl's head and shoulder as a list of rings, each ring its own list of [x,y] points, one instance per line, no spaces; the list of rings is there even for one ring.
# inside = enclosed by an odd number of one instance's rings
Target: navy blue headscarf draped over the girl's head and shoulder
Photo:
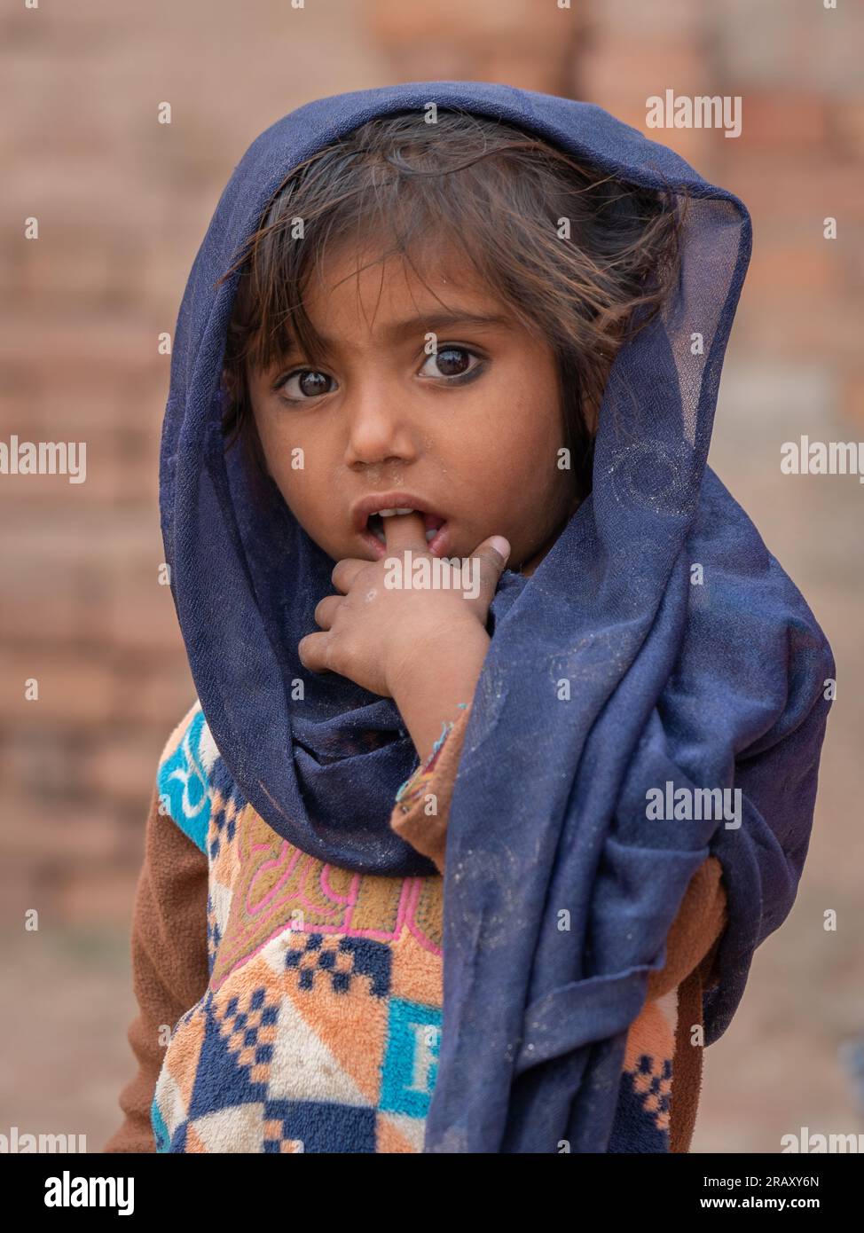
[[[171,591],[210,730],[261,817],[348,869],[434,873],[389,826],[417,764],[396,704],[300,663],[334,562],[272,482],[254,487],[243,451],[226,455],[237,274],[216,286],[296,164],[430,102],[690,199],[677,296],[610,372],[593,493],[530,578],[502,576],[447,831],[424,1150],[604,1152],[626,1032],[691,874],[715,854],[728,903],[707,1044],[790,911],[834,676],[807,604],[706,466],[751,252],[741,201],[600,107],[503,85],[364,90],[277,121],[235,166],[180,308],[160,459]],[[741,825],[650,817],[667,784],[740,790]]]

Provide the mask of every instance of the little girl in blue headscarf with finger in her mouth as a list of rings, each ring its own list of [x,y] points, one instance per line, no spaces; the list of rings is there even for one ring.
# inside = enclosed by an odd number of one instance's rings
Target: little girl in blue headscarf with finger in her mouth
[[[197,699],[106,1150],[688,1150],[833,676],[705,467],[748,253],[569,100],[419,83],[253,143],[174,340]]]

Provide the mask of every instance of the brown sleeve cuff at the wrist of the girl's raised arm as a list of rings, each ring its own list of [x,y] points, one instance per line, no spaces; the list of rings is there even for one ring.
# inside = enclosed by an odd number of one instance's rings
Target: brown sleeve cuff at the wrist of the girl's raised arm
[[[444,873],[450,799],[454,794],[470,714],[471,703],[460,710],[438,756],[428,758],[410,777],[406,785],[406,795],[393,806],[389,819],[396,834],[434,861],[439,873]],[[428,814],[426,804],[433,795],[436,798],[435,813]]]

